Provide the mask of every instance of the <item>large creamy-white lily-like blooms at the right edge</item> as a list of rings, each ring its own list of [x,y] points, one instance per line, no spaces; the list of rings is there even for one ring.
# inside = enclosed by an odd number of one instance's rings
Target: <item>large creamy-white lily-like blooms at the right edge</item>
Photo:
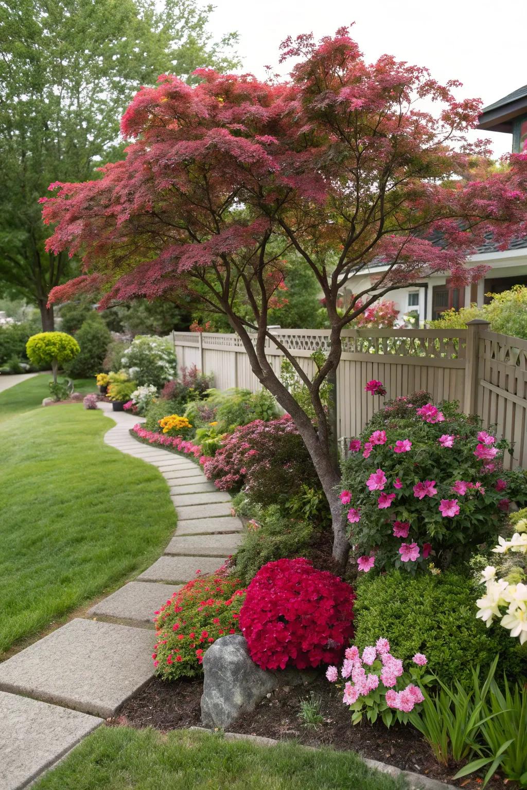
[[[500,625],[510,630],[512,638],[518,638],[523,645],[527,641],[527,584],[525,584],[525,555],[527,554],[527,517],[520,518],[515,524],[516,532],[506,540],[499,537],[498,545],[492,550],[496,554],[512,552],[522,555],[521,566],[514,566],[509,574],[499,579],[494,566],[488,565],[481,572],[485,594],[476,601],[476,617],[490,628],[494,619],[500,618]],[[520,556],[518,556],[520,559]]]

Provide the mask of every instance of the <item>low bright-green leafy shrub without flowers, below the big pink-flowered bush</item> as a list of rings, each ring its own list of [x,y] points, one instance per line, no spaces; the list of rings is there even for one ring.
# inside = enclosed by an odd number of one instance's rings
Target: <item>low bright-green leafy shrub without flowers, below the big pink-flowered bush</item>
[[[425,653],[428,668],[444,683],[470,683],[476,664],[486,675],[496,653],[501,654],[499,673],[525,674],[527,656],[506,631],[487,630],[476,620],[478,596],[472,579],[454,570],[413,577],[401,570],[364,575],[356,585],[354,643],[362,650],[382,634],[403,661]]]

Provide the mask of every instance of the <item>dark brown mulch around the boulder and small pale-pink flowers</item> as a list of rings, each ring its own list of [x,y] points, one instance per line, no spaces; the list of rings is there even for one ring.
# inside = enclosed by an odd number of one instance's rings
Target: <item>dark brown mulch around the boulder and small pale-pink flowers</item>
[[[119,717],[108,720],[107,724],[153,727],[163,732],[200,726],[202,690],[203,682],[199,678],[181,679],[175,683],[154,678],[125,703]],[[311,694],[320,699],[320,713],[324,717],[324,723],[316,727],[306,726],[299,719],[300,701],[310,698]],[[276,690],[253,713],[240,717],[228,730],[277,740],[294,740],[305,746],[356,751],[364,758],[423,773],[467,790],[476,790],[482,784],[481,779],[473,777],[454,781],[452,777],[457,767],[440,766],[420,733],[410,726],[395,725],[389,730],[381,723],[352,726],[348,708],[342,705],[337,690],[323,678],[315,680],[309,687],[286,686]],[[487,784],[489,790],[516,787],[516,783],[505,782],[498,777]]]

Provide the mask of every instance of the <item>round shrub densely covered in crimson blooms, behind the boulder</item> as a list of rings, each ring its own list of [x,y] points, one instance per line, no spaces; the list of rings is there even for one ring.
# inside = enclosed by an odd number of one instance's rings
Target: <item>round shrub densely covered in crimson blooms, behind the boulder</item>
[[[301,557],[264,565],[247,587],[239,627],[262,669],[335,664],[353,634],[350,585]]]

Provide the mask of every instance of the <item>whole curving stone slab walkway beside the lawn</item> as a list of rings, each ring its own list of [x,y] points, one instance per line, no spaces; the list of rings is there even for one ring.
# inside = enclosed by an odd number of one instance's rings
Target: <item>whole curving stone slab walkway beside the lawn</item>
[[[0,664],[0,790],[27,787],[152,678],[153,612],[242,540],[230,497],[194,461],[137,442],[137,417],[99,406],[116,423],[104,441],[160,470],[180,520],[164,555],[135,581]]]

